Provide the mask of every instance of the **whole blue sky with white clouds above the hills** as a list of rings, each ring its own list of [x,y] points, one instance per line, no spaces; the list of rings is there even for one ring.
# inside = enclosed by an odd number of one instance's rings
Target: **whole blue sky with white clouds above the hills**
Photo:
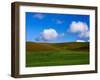
[[[26,12],[26,41],[89,42],[90,16]]]

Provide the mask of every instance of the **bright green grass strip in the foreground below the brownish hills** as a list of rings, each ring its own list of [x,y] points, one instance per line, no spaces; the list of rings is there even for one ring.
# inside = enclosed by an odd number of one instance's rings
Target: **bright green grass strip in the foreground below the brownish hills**
[[[89,64],[88,51],[27,51],[26,67]]]

